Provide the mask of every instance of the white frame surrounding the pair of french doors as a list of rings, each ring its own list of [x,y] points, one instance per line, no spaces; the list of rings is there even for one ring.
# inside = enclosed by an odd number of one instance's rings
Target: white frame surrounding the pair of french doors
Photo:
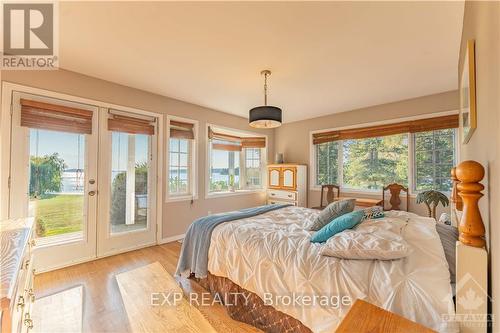
[[[162,225],[163,225],[163,219],[162,219],[162,213],[163,213],[163,156],[164,156],[164,143],[163,143],[163,138],[164,138],[164,114],[158,113],[158,112],[152,112],[152,111],[146,111],[146,110],[140,110],[136,108],[131,108],[123,105],[118,105],[118,104],[113,104],[113,103],[107,103],[107,102],[102,102],[102,101],[97,101],[89,98],[82,98],[82,97],[77,97],[74,95],[70,94],[65,94],[65,93],[59,93],[51,90],[46,90],[46,89],[40,89],[40,88],[34,88],[30,86],[25,86],[17,83],[12,83],[12,82],[7,82],[7,81],[2,81],[2,105],[1,105],[1,112],[0,112],[0,220],[5,220],[9,218],[9,205],[10,205],[10,169],[11,169],[11,110],[12,110],[12,96],[13,92],[21,92],[21,93],[27,93],[27,94],[33,94],[33,95],[40,95],[44,96],[47,98],[56,98],[60,100],[67,100],[70,102],[74,103],[82,103],[82,104],[88,104],[88,105],[93,105],[98,107],[100,110],[98,111],[101,112],[101,109],[118,109],[118,110],[123,110],[123,111],[128,111],[131,113],[139,113],[139,114],[144,114],[144,115],[150,115],[153,117],[157,117],[158,119],[158,142],[157,142],[157,152],[156,152],[156,244],[161,243],[162,239]],[[102,135],[99,133],[99,135]],[[99,171],[98,171],[99,172]],[[99,178],[99,175],[98,175]],[[98,222],[99,223],[99,222]],[[97,235],[96,235],[97,237]],[[146,246],[150,246],[146,245]],[[136,248],[141,248],[145,246],[138,246]],[[133,248],[129,248],[125,251],[133,250]],[[97,251],[96,251],[97,253]],[[107,255],[113,255],[116,253],[109,253]],[[36,255],[36,252],[35,252]],[[82,260],[78,261],[71,261],[71,262],[66,262],[62,263],[56,266],[52,267],[40,267],[37,272],[45,272],[49,270],[54,270],[62,267],[67,267],[71,266],[77,263],[85,262],[85,261],[91,261],[95,260],[96,257],[92,258],[82,258]]]

